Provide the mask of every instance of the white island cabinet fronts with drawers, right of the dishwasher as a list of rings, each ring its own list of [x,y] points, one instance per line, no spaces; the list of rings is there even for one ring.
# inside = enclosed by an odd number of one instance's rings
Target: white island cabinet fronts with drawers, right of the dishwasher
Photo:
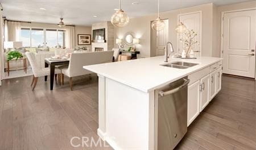
[[[208,103],[221,90],[222,61],[189,74],[188,120],[189,126]]]

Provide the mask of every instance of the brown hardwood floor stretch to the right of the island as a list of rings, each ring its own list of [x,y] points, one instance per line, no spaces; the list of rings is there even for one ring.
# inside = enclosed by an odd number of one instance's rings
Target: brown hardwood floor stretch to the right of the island
[[[176,149],[256,149],[256,82],[223,76],[220,93]]]

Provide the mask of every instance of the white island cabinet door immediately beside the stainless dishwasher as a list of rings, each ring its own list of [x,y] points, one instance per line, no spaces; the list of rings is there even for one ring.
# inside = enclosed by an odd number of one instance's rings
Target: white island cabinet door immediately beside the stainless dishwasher
[[[199,115],[200,80],[188,86],[188,126]]]

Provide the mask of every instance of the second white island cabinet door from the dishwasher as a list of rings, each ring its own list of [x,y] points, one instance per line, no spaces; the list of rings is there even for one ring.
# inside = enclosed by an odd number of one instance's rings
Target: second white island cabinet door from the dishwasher
[[[204,109],[209,103],[209,91],[210,91],[210,75],[201,78],[201,94],[200,94],[200,111]]]

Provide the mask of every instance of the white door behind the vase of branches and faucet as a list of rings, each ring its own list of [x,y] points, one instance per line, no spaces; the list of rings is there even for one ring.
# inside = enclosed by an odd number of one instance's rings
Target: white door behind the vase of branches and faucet
[[[180,14],[178,16],[178,20],[189,29],[189,30],[195,30],[197,33],[197,36],[195,40],[198,42],[197,44],[193,45],[192,49],[195,52],[196,57],[201,56],[201,12],[193,12],[189,14]],[[184,34],[179,34],[178,36],[178,43],[179,43],[179,52],[181,53],[183,51],[183,48],[185,48],[183,41],[180,41],[180,39],[185,38]]]

